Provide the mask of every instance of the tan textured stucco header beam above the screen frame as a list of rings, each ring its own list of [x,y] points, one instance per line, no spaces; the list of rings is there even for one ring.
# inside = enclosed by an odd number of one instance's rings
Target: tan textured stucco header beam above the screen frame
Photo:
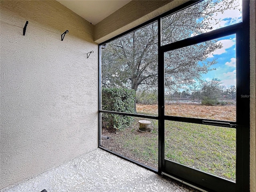
[[[95,25],[94,41],[102,43],[188,0],[132,0]]]

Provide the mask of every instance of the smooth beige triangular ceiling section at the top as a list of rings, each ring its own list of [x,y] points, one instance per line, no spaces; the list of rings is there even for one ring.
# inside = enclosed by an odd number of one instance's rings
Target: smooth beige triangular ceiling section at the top
[[[93,25],[131,0],[57,0]]]

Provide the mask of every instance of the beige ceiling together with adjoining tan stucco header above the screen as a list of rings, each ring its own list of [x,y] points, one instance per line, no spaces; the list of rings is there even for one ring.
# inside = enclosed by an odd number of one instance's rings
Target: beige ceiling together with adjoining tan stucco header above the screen
[[[100,44],[188,0],[57,0],[94,25]]]

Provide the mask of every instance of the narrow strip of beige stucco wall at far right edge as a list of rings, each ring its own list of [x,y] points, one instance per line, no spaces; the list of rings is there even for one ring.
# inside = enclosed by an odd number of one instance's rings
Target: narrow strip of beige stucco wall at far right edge
[[[256,192],[256,1],[250,1],[250,191]]]

